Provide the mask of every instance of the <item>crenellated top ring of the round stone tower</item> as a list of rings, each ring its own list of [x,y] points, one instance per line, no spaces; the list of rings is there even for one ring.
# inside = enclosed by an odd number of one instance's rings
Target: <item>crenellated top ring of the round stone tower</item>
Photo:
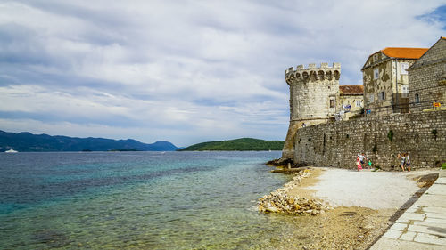
[[[341,76],[341,63],[334,62],[332,67],[328,63],[322,62],[320,67],[316,67],[316,63],[310,63],[308,68],[298,65],[296,69],[293,67],[286,69],[285,80],[288,85],[295,82],[316,82],[318,80],[339,80]]]

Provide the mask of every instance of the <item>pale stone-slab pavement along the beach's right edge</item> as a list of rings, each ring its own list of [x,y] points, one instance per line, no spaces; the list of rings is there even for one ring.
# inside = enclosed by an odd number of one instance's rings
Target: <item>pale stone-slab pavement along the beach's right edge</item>
[[[370,247],[381,249],[446,249],[446,170]]]

